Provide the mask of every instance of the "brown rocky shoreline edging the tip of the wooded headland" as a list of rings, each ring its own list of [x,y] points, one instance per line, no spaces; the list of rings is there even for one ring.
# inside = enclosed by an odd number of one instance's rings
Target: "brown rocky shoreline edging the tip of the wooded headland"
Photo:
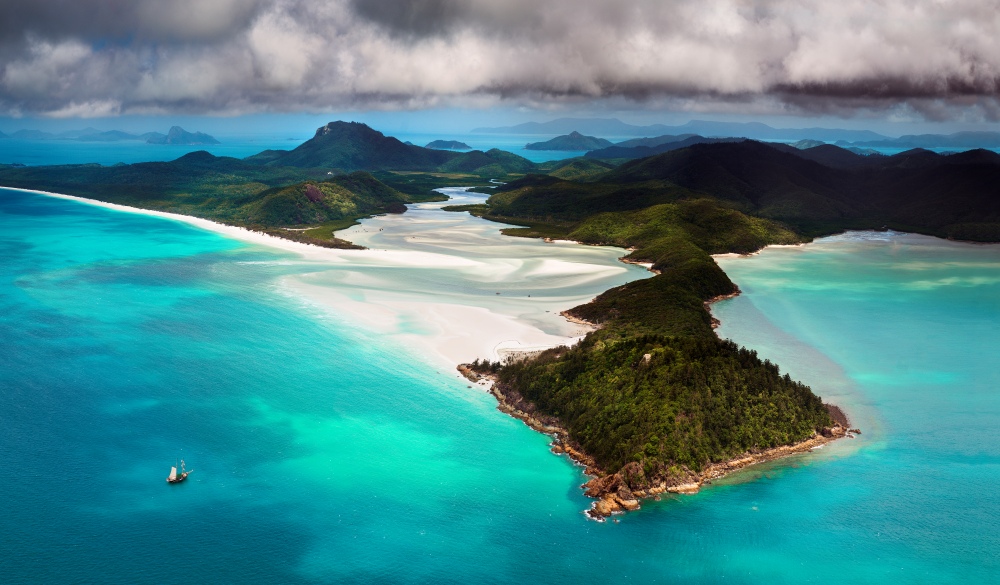
[[[641,506],[642,500],[658,499],[663,493],[693,494],[705,484],[751,465],[804,453],[837,439],[853,438],[854,435],[861,433],[858,429],[850,428],[846,415],[839,407],[827,405],[834,425],[822,429],[821,432],[804,441],[743,453],[728,461],[712,463],[701,472],[685,469],[685,473],[681,476],[650,484],[645,480],[637,481],[637,478],[644,477],[641,470],[632,469],[632,467],[638,466],[638,463],[630,463],[615,473],[607,473],[598,467],[594,459],[570,439],[569,433],[560,425],[556,417],[539,413],[533,403],[525,400],[513,388],[500,383],[494,376],[476,372],[470,364],[460,364],[458,371],[465,378],[477,384],[486,382],[487,390],[497,399],[497,409],[521,420],[532,429],[552,437],[553,453],[565,454],[572,461],[585,468],[584,473],[591,479],[581,487],[587,497],[595,500],[591,508],[587,510],[587,516],[595,520],[603,520],[613,514],[637,510]]]

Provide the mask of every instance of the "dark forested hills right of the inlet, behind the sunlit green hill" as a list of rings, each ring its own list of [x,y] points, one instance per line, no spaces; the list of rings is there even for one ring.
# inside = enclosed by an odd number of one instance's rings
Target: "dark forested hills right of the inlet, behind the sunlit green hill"
[[[831,145],[697,144],[626,162],[588,183],[530,176],[498,191],[496,213],[513,217],[579,220],[707,197],[806,236],[891,227],[1000,241],[1000,155],[986,150],[863,156]]]

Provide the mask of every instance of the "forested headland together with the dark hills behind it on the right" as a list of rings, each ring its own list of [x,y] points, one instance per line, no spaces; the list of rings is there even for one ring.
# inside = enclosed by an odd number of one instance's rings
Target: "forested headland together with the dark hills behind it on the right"
[[[636,488],[832,424],[808,388],[713,334],[705,301],[737,288],[710,254],[883,226],[998,241],[1000,156],[698,144],[586,180],[528,175],[470,211],[524,226],[510,235],[632,248],[659,272],[571,309],[602,325],[577,347],[478,364]]]

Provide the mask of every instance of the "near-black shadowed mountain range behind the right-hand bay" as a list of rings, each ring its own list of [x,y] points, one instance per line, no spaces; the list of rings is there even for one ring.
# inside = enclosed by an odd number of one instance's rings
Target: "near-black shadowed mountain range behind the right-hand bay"
[[[828,228],[821,226],[832,224],[862,228],[889,224],[980,239],[972,232],[985,233],[987,228],[978,224],[989,223],[994,232],[1000,228],[996,153],[942,155],[915,149],[866,157],[833,145],[791,152],[775,146],[753,141],[695,145],[625,163],[603,180],[667,181],[748,206],[754,213],[806,232],[823,231]],[[992,236],[994,241],[997,236],[1000,232]]]

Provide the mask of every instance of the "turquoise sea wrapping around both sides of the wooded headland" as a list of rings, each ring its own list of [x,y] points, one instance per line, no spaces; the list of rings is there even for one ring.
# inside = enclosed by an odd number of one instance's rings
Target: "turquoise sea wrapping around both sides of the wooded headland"
[[[862,438],[600,524],[491,397],[294,302],[290,254],[0,191],[4,582],[989,581],[997,248],[906,238],[725,261],[724,334]]]

